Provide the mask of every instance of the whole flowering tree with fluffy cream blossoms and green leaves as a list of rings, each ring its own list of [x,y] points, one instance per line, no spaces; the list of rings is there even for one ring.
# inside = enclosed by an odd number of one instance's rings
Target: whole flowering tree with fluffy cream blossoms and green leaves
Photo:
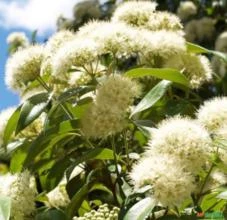
[[[177,16],[130,1],[43,45],[8,39],[21,104],[0,114],[2,219],[225,209],[227,98],[208,57],[227,57],[186,42]]]

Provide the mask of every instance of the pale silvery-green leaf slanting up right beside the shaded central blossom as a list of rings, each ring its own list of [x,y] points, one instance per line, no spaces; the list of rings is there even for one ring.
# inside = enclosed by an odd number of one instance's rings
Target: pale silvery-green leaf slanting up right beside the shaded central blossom
[[[167,80],[162,80],[161,82],[159,82],[133,109],[130,117],[153,106],[160,98],[162,98],[170,85],[171,82]]]

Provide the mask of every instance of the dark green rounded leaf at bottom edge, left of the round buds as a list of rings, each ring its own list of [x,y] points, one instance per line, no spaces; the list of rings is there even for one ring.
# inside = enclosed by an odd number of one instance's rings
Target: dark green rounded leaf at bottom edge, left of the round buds
[[[38,213],[35,220],[69,220],[64,212],[57,209],[48,209]]]

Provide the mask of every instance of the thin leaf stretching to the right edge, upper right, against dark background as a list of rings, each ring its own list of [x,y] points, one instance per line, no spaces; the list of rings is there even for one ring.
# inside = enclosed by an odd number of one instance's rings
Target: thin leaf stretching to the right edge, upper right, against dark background
[[[207,54],[213,54],[217,57],[219,57],[220,59],[224,60],[225,62],[227,62],[227,55],[225,53],[222,53],[220,51],[215,51],[215,50],[208,50],[204,47],[201,47],[199,45],[187,42],[187,50],[191,53],[207,53]]]

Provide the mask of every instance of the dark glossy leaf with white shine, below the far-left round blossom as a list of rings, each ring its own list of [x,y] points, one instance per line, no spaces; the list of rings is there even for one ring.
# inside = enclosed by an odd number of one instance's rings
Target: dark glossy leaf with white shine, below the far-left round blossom
[[[39,93],[27,99],[21,107],[16,134],[32,123],[49,104],[49,94]]]

